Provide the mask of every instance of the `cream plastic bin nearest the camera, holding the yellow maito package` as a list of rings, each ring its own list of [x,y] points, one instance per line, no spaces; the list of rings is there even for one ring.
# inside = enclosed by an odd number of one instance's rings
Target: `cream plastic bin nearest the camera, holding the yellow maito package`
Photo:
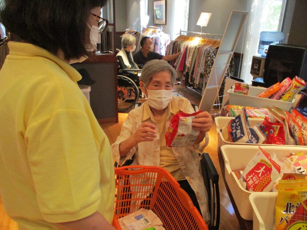
[[[252,193],[249,200],[253,208],[253,230],[272,230],[277,193]]]

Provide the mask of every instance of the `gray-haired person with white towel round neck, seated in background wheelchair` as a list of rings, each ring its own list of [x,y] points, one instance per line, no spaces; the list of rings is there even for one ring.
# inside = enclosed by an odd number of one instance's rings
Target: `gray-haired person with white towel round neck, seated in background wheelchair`
[[[133,61],[131,54],[135,48],[135,37],[131,34],[124,34],[122,36],[122,49],[117,54],[119,66],[121,69],[139,69],[138,65]]]

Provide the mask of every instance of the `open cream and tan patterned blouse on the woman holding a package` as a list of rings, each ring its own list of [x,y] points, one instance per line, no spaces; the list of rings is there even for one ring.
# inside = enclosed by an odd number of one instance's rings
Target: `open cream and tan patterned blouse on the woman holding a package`
[[[170,121],[175,113],[181,109],[185,113],[194,113],[194,109],[190,102],[182,97],[173,97],[173,100],[169,103],[166,113],[165,126],[169,127]],[[132,136],[142,122],[149,122],[156,125],[157,137],[153,141],[140,142],[130,152],[123,157],[119,155],[119,144]],[[206,134],[205,143],[202,146],[195,145],[194,147],[172,148],[178,164],[185,175],[185,178],[189,182],[190,186],[196,194],[197,201],[200,205],[202,216],[206,223],[209,221],[208,211],[208,199],[207,191],[204,186],[204,180],[202,177],[200,156],[198,152],[202,153],[205,146],[208,144],[209,138]],[[203,142],[202,142],[203,143]],[[122,125],[122,130],[117,140],[111,146],[113,158],[119,165],[125,163],[127,159],[131,159],[134,156],[133,163],[131,165],[146,165],[146,166],[159,166],[160,165],[160,141],[159,141],[159,129],[154,122],[153,115],[147,102],[144,102],[142,106],[133,109],[128,114],[126,121]],[[145,188],[141,188],[145,191]],[[146,194],[146,193],[144,193]],[[145,198],[146,196],[142,197]],[[132,197],[133,198],[133,197]],[[132,199],[133,200],[133,199]]]

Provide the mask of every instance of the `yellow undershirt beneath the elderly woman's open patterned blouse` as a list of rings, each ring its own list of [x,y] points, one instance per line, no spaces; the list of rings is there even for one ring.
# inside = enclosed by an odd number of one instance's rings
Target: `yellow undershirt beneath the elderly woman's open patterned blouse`
[[[160,132],[160,167],[165,168],[177,180],[186,180],[178,161],[173,153],[172,148],[166,146],[165,142],[165,121],[168,113],[164,113],[160,118],[154,118]]]

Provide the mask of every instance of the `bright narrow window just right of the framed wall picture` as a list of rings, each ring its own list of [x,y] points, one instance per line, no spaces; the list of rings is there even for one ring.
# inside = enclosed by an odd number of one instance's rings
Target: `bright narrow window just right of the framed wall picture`
[[[188,30],[190,0],[173,0],[173,28],[171,39],[174,40],[180,30]]]

